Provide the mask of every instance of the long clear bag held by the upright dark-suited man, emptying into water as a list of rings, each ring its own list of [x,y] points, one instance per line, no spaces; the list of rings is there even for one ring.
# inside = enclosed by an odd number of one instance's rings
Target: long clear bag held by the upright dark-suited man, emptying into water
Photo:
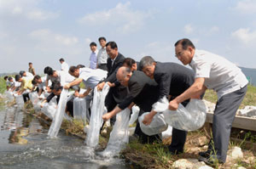
[[[102,127],[102,115],[107,112],[105,109],[105,98],[109,91],[109,86],[106,83],[102,91],[94,88],[93,102],[91,106],[90,127],[85,138],[85,144],[90,147],[96,147],[99,143],[100,129]]]

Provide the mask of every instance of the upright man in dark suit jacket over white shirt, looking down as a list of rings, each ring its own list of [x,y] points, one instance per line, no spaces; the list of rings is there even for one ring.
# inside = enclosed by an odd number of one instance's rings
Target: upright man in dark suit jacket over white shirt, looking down
[[[97,85],[98,90],[102,90],[105,83],[108,82],[110,89],[105,99],[105,104],[108,109],[108,112],[113,110],[114,107],[119,104],[125,96],[127,95],[126,87],[120,85],[116,79],[116,72],[119,67],[123,64],[125,57],[123,54],[120,54],[118,51],[118,46],[116,42],[108,42],[106,45],[106,50],[109,55],[108,58],[108,76],[107,78]],[[110,122],[113,124],[115,117],[113,117]]]

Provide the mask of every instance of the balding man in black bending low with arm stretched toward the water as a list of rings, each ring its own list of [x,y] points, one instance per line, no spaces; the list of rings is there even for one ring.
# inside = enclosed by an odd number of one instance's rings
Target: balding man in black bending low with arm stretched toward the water
[[[157,83],[154,82],[154,80],[150,79],[142,71],[131,71],[130,68],[125,66],[119,68],[117,79],[122,86],[128,87],[129,93],[118,106],[102,116],[103,120],[107,121],[121,110],[125,110],[127,107],[131,108],[133,104],[137,104],[144,112],[148,112],[152,109],[152,104],[157,101],[155,95],[158,95]],[[148,137],[142,133],[140,138],[143,143],[153,143],[158,136],[154,135]]]

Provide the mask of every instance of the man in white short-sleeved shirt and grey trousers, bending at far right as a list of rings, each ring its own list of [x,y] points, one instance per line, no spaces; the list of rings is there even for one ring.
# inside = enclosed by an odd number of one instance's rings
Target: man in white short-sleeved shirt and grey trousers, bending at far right
[[[208,165],[224,163],[230,141],[230,130],[242,99],[247,92],[247,78],[241,70],[229,60],[217,54],[195,49],[189,39],[175,43],[177,59],[183,65],[190,65],[195,71],[195,82],[185,92],[173,99],[170,110],[177,110],[183,100],[198,97],[207,88],[218,94],[213,121],[212,141],[206,152],[200,152],[199,161]]]

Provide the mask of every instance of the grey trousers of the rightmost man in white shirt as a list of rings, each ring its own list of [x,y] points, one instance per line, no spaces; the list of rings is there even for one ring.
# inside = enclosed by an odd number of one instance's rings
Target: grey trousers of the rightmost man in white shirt
[[[230,132],[236,116],[236,110],[238,110],[246,93],[247,86],[233,93],[225,94],[218,99],[216,104],[212,121],[212,140],[214,146],[209,146],[208,150],[213,149],[213,153],[216,153],[218,160],[223,162],[226,161]]]

